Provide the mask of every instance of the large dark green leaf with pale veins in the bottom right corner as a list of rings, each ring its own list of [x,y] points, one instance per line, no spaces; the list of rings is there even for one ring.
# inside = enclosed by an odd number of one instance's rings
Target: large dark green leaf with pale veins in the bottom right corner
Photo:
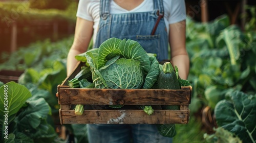
[[[216,105],[215,115],[219,127],[234,133],[243,142],[256,141],[256,94],[230,92],[227,99]]]

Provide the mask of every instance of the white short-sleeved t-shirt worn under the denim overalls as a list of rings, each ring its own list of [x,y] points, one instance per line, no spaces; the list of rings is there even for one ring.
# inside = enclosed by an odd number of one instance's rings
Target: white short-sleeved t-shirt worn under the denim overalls
[[[110,13],[129,13],[129,12],[147,12],[154,9],[155,0],[144,0],[139,6],[132,10],[126,10],[118,6],[113,0],[110,2]],[[186,19],[185,0],[163,0],[164,6],[164,21],[169,32],[169,24],[180,22]],[[94,32],[93,42],[96,40],[96,33],[100,20],[100,0],[80,0],[77,9],[77,17],[93,21]]]

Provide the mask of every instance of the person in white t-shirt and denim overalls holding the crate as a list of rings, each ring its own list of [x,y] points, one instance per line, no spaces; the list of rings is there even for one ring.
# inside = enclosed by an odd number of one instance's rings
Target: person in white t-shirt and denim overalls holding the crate
[[[168,44],[173,65],[187,79],[189,57],[185,48],[184,0],[80,0],[75,37],[68,55],[67,74],[93,38],[94,47],[111,38],[138,41],[159,61],[168,59]],[[172,142],[155,125],[88,125],[90,142]]]

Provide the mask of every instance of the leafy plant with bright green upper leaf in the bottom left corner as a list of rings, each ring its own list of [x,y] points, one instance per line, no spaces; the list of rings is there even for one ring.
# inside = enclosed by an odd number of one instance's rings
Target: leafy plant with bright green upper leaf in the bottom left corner
[[[47,123],[51,108],[44,98],[33,98],[36,94],[15,82],[0,87],[1,142],[61,142],[54,128]],[[8,104],[5,104],[8,101]],[[6,116],[5,116],[6,115]]]

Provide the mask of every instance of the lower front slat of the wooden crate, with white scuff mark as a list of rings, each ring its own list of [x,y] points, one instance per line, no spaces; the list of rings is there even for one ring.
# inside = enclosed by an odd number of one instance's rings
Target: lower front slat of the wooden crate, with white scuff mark
[[[60,110],[62,124],[187,124],[189,110],[155,110],[147,115],[143,110]]]

